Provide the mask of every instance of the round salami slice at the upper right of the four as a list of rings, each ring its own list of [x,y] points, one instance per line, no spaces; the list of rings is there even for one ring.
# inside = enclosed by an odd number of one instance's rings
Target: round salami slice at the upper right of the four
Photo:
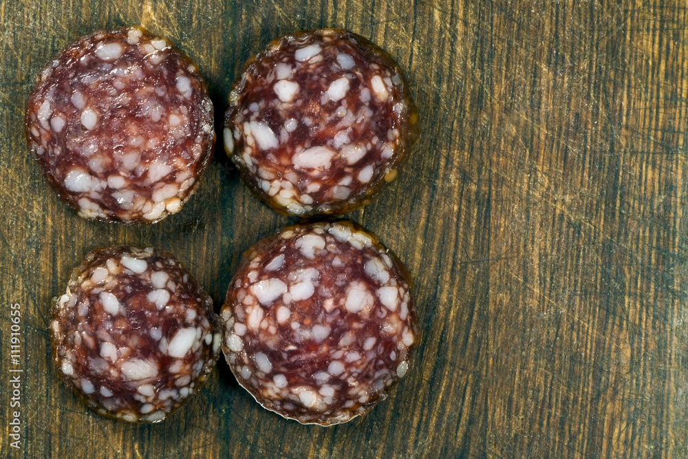
[[[279,213],[341,214],[397,175],[417,113],[389,55],[344,30],[273,41],[235,83],[224,147]]]

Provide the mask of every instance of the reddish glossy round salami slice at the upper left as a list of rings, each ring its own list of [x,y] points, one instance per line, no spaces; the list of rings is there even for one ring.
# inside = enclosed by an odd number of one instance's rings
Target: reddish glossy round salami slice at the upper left
[[[198,68],[138,27],[78,39],[36,78],[32,156],[81,217],[153,223],[178,212],[211,159],[213,104]]]

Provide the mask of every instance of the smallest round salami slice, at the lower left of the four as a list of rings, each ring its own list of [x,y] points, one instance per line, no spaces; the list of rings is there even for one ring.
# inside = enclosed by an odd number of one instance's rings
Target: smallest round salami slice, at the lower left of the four
[[[198,392],[222,341],[213,301],[171,255],[90,253],[56,299],[53,360],[98,414],[157,423]]]

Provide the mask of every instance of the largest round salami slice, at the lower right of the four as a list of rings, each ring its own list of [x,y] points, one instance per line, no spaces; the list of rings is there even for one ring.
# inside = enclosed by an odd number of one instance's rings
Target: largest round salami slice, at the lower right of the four
[[[303,424],[365,414],[418,341],[407,271],[352,222],[288,227],[250,248],[220,321],[239,384]]]

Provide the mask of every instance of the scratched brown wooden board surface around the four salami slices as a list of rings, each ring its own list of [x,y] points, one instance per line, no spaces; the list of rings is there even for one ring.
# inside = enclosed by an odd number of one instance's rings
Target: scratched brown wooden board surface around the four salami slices
[[[662,0],[0,0],[0,456],[688,457],[687,23]],[[283,420],[224,359],[153,426],[100,418],[56,377],[50,299],[93,248],[169,250],[219,308],[241,253],[292,221],[222,148],[184,210],[154,226],[85,222],[47,189],[22,132],[34,76],[76,37],[129,24],[200,65],[217,127],[244,61],[281,34],[347,28],[405,70],[422,136],[349,216],[407,264],[423,337],[365,418]]]

